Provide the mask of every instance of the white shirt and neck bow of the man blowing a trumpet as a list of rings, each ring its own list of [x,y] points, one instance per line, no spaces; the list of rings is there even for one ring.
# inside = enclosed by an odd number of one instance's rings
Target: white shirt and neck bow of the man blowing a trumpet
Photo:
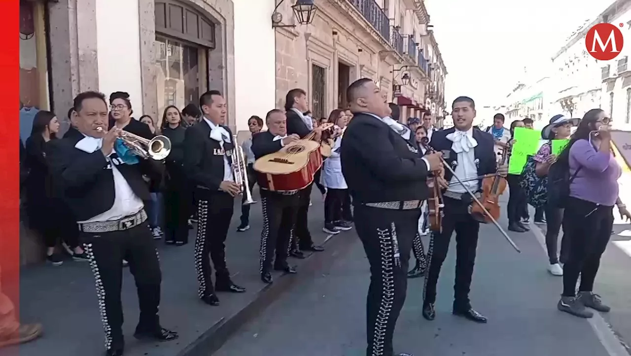
[[[81,151],[92,153],[100,149],[101,144],[102,139],[86,136],[84,139],[77,142],[74,147]],[[114,153],[114,151],[112,151],[112,153]],[[110,155],[112,153],[110,153]],[[114,204],[112,204],[112,207],[106,212],[85,221],[78,221],[80,224],[85,222],[117,221],[123,217],[137,214],[144,207],[143,201],[134,193],[131,187],[129,187],[129,183],[127,183],[125,177],[122,176],[121,172],[116,168],[116,164],[110,159],[110,155],[105,159],[107,159],[107,169],[112,169],[112,176],[114,176]]]

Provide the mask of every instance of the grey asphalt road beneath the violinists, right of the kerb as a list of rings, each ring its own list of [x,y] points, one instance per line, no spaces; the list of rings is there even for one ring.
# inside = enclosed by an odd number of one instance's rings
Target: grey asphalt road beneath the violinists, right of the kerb
[[[506,226],[506,221],[502,219],[500,224]],[[546,272],[543,234],[538,227],[531,227],[532,232],[509,233],[521,254],[495,226],[481,228],[471,300],[475,309],[489,318],[488,324],[475,324],[451,314],[452,239],[439,280],[437,318],[431,322],[422,318],[423,279],[410,280],[395,333],[395,352],[432,356],[630,355],[623,343],[631,343],[631,256],[618,241],[631,243],[631,238],[612,236],[616,242],[610,243],[604,255],[595,292],[613,309],[587,321],[557,311],[562,278]],[[615,226],[616,233],[628,228]],[[284,294],[214,355],[365,355],[369,265],[355,233],[346,234],[345,238],[355,239],[346,255]]]

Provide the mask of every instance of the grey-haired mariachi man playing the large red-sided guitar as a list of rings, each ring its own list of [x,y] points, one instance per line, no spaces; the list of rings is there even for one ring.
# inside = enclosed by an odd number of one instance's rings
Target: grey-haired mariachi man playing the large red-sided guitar
[[[297,134],[287,135],[286,120],[282,110],[274,109],[268,112],[266,116],[268,130],[252,137],[254,158],[259,159],[266,154],[278,152],[285,145],[300,139]],[[259,184],[259,187],[262,186]],[[260,272],[261,280],[265,283],[272,282],[272,261],[274,261],[274,270],[296,273],[295,268],[287,264],[287,251],[292,227],[296,222],[298,203],[298,192],[271,192],[261,188],[263,230]]]

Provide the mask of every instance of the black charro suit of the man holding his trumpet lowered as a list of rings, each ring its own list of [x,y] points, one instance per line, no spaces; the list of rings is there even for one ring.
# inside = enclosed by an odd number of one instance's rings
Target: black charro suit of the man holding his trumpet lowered
[[[235,142],[230,129],[227,126],[220,126],[228,135],[221,142],[210,138],[211,127],[204,119],[188,127],[184,134],[184,172],[193,185],[194,195],[198,200],[198,231],[194,258],[199,297],[212,305],[218,304],[218,299],[211,280],[211,259],[215,266],[217,290],[245,291],[232,283],[226,265],[225,241],[234,211],[234,198],[220,190],[220,185],[227,175],[225,169],[232,169],[226,168],[224,158],[227,158],[228,165],[232,166]]]

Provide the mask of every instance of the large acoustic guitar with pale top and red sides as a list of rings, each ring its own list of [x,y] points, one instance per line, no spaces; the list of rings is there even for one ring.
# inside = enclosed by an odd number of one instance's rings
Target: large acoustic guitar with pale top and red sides
[[[333,127],[321,125],[323,130]],[[291,192],[306,188],[314,181],[315,172],[322,166],[320,142],[313,141],[314,132],[292,142],[278,152],[262,156],[254,162],[254,171],[261,188],[272,192]]]

